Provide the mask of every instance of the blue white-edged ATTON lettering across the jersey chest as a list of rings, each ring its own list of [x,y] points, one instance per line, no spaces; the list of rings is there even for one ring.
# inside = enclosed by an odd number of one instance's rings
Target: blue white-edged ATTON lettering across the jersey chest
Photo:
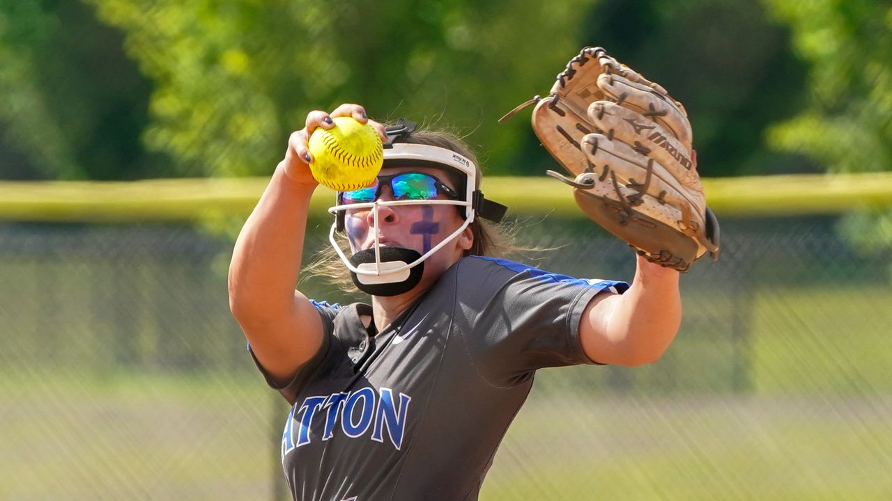
[[[412,398],[405,393],[399,393],[398,403],[394,400],[395,397],[390,388],[376,391],[366,387],[351,393],[340,392],[304,398],[299,405],[295,404],[288,414],[285,431],[282,433],[283,461],[286,454],[311,443],[314,439],[325,441],[334,437],[339,421],[341,431],[351,439],[365,435],[371,428],[371,439],[384,443],[384,430],[386,430],[393,447],[400,450],[409,416],[409,401]],[[311,432],[312,423],[324,423],[321,437]]]

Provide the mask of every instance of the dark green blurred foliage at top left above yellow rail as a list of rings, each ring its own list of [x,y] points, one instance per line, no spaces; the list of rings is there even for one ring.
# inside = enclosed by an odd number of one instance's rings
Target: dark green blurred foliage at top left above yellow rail
[[[172,175],[140,141],[150,91],[86,5],[0,0],[0,177]]]

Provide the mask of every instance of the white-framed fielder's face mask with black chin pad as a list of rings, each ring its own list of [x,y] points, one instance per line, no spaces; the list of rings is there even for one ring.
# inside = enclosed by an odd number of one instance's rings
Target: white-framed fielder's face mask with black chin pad
[[[335,247],[343,264],[350,269],[353,283],[357,288],[375,296],[395,296],[409,292],[421,280],[425,259],[458,237],[474,222],[475,217],[500,222],[507,210],[504,205],[483,198],[483,193],[476,189],[476,167],[471,160],[439,146],[394,143],[411,134],[415,127],[415,123],[404,119],[398,120],[395,126],[387,127],[384,167],[433,167],[457,173],[462,180],[457,190],[443,185],[434,176],[399,173],[394,176],[379,177],[376,186],[337,193],[336,205],[328,209],[328,212],[335,214],[335,223],[328,233],[329,242]],[[390,185],[395,200],[377,200],[383,185]],[[437,195],[441,194],[446,196],[446,200],[437,198]],[[378,242],[380,237],[378,209],[422,204],[458,206],[464,223],[423,256],[417,250],[382,247]],[[344,231],[344,220],[348,209],[370,210],[374,221],[372,230],[375,235],[375,242],[370,249],[359,250],[351,258],[347,258],[341,246],[335,241],[335,233]]]

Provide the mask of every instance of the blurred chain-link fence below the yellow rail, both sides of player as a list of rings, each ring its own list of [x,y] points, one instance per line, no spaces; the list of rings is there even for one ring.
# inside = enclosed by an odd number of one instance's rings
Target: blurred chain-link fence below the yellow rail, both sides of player
[[[892,256],[833,224],[723,221],[665,357],[537,374],[482,499],[892,498]],[[591,223],[521,242],[558,246],[551,271],[632,278]],[[0,226],[0,499],[287,497],[287,409],[229,314],[231,249],[185,226]]]

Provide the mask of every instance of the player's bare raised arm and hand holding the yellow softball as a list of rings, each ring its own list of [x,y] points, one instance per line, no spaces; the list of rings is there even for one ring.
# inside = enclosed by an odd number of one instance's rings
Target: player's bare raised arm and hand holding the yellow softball
[[[310,173],[307,141],[316,127],[333,127],[332,116],[368,120],[355,104],[343,104],[331,114],[310,112],[306,127],[289,137],[285,159],[245,221],[229,266],[229,308],[260,365],[279,382],[296,374],[323,341],[316,308],[294,286],[310,197],[318,185]]]

